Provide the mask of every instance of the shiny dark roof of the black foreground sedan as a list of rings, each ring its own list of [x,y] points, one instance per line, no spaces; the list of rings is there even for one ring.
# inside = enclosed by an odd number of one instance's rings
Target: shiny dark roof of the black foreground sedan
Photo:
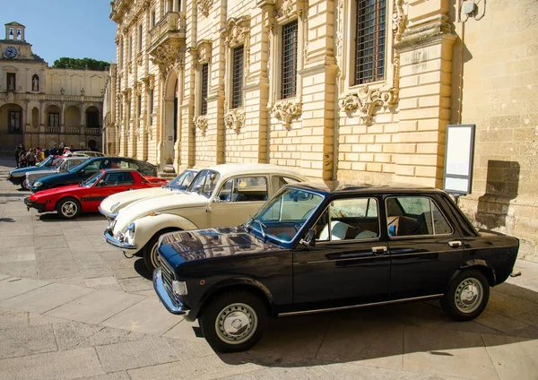
[[[446,194],[443,190],[430,186],[413,184],[388,183],[386,185],[370,185],[351,182],[325,181],[287,185],[325,194]]]

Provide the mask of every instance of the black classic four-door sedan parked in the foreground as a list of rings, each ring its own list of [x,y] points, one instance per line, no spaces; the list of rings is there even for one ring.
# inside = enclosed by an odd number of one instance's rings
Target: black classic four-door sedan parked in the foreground
[[[474,229],[438,189],[294,184],[242,226],[164,235],[153,286],[230,352],[254,346],[268,316],[439,298],[471,320],[518,247]]]

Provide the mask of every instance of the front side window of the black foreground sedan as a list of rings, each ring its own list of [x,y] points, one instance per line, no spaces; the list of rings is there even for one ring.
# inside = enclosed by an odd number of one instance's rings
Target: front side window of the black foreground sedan
[[[376,198],[335,200],[317,220],[317,241],[379,238]]]

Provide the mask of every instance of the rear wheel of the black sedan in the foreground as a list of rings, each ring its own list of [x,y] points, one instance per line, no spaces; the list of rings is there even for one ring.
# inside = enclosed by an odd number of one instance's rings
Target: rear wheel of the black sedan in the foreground
[[[482,314],[490,298],[490,283],[476,270],[461,272],[440,299],[443,311],[456,321],[470,321]]]

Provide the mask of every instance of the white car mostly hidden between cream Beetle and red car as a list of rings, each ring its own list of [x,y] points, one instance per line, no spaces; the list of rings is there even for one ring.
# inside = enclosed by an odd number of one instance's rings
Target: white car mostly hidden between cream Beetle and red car
[[[116,218],[117,212],[136,201],[140,201],[144,198],[154,198],[156,196],[167,195],[171,192],[186,191],[196,174],[198,174],[198,169],[188,168],[178,177],[175,177],[164,186],[124,191],[110,195],[103,199],[103,202],[100,203],[99,212],[105,215],[108,220],[113,220]]]

